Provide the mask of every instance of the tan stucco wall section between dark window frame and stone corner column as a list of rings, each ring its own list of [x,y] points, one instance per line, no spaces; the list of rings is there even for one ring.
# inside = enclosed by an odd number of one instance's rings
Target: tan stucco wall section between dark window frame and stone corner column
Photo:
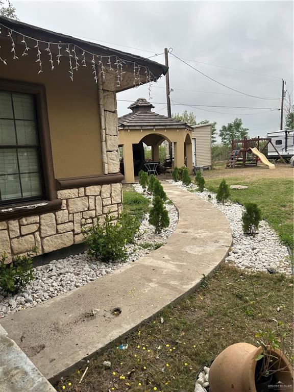
[[[42,52],[44,72],[38,74],[36,49],[22,57],[23,46],[16,45],[19,59],[13,60],[11,44],[1,40],[1,46],[1,57],[8,63],[0,62],[1,79],[45,86],[55,177],[103,174],[97,85],[91,67],[80,66],[71,82],[68,59],[61,57],[51,70],[48,54]]]

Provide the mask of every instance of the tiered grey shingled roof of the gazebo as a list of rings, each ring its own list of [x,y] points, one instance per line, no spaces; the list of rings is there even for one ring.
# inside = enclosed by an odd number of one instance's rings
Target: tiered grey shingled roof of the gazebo
[[[187,122],[175,120],[161,114],[152,112],[154,106],[145,100],[139,98],[128,109],[132,109],[132,113],[118,117],[118,130],[126,128],[186,128],[192,131]]]

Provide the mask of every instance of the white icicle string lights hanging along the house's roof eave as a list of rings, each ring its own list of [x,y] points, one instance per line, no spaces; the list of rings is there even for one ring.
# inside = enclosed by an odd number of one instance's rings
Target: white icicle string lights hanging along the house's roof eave
[[[13,39],[13,34],[19,35],[22,38],[21,43],[24,45],[24,50],[23,50],[23,53],[21,54],[21,56],[27,56],[29,54],[28,52],[31,47],[34,47],[37,49],[36,62],[39,63],[38,74],[40,74],[40,72],[43,72],[42,61],[41,61],[41,51],[40,51],[39,45],[44,44],[44,45],[46,45],[45,51],[48,53],[49,62],[50,62],[52,70],[54,69],[52,47],[56,47],[58,50],[58,54],[56,56],[57,64],[60,64],[60,57],[65,56],[64,52],[68,54],[69,76],[70,76],[71,80],[73,80],[74,70],[78,70],[78,67],[80,66],[80,64],[79,64],[80,60],[79,60],[78,54],[76,52],[77,49],[79,49],[79,51],[81,51],[81,65],[84,67],[87,66],[85,56],[86,56],[86,54],[90,55],[90,57],[92,59],[90,61],[90,63],[91,63],[91,67],[93,70],[95,83],[97,83],[97,79],[98,79],[96,66],[99,67],[99,72],[102,75],[103,79],[105,78],[106,66],[109,71],[114,71],[117,87],[120,87],[123,76],[126,73],[126,71],[124,70],[124,66],[133,67],[134,86],[136,86],[136,87],[142,83],[145,83],[145,82],[150,83],[150,82],[157,79],[147,66],[142,66],[142,65],[140,66],[136,62],[121,59],[116,55],[97,55],[97,54],[94,54],[94,53],[91,53],[89,51],[84,50],[82,47],[80,47],[79,45],[76,45],[74,43],[47,42],[47,41],[43,41],[43,40],[38,40],[36,38],[29,37],[27,35],[19,33],[18,31],[10,29],[2,23],[0,23],[0,34],[3,34],[3,31],[2,31],[3,28],[7,30],[7,32],[8,32],[7,35],[11,40],[11,46],[12,46],[11,52],[13,54],[14,60],[17,60],[18,57],[17,57],[16,51],[15,51],[15,41]],[[28,45],[29,45],[30,41],[35,42],[35,45],[29,47]],[[0,48],[1,48],[1,46],[0,46]],[[62,53],[62,51],[63,51],[63,53]],[[0,57],[0,61],[3,62],[5,65],[7,65],[6,59],[3,59]],[[145,74],[143,82],[141,80],[142,73]],[[150,83],[149,88],[151,88],[151,83]]]

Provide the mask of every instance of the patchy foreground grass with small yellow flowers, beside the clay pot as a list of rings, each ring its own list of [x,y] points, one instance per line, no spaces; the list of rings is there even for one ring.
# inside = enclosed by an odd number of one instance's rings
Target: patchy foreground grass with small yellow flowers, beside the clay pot
[[[127,350],[114,346],[91,359],[81,384],[86,365],[59,382],[57,390],[192,392],[201,366],[209,365],[230,344],[254,344],[255,331],[264,325],[275,329],[276,321],[284,323],[285,352],[288,357],[292,355],[290,278],[266,273],[246,275],[223,264],[204,282],[192,295],[167,306],[150,322],[122,338],[119,344],[128,344]],[[110,369],[104,369],[105,360],[111,361]]]

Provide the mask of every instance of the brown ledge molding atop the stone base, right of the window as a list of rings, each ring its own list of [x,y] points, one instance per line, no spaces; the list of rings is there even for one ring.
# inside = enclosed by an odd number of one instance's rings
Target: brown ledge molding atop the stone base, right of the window
[[[124,180],[124,176],[121,173],[113,174],[102,174],[97,176],[85,176],[85,177],[71,177],[71,178],[60,178],[56,180],[57,189],[70,189],[79,188],[90,185],[105,185],[121,182]]]

